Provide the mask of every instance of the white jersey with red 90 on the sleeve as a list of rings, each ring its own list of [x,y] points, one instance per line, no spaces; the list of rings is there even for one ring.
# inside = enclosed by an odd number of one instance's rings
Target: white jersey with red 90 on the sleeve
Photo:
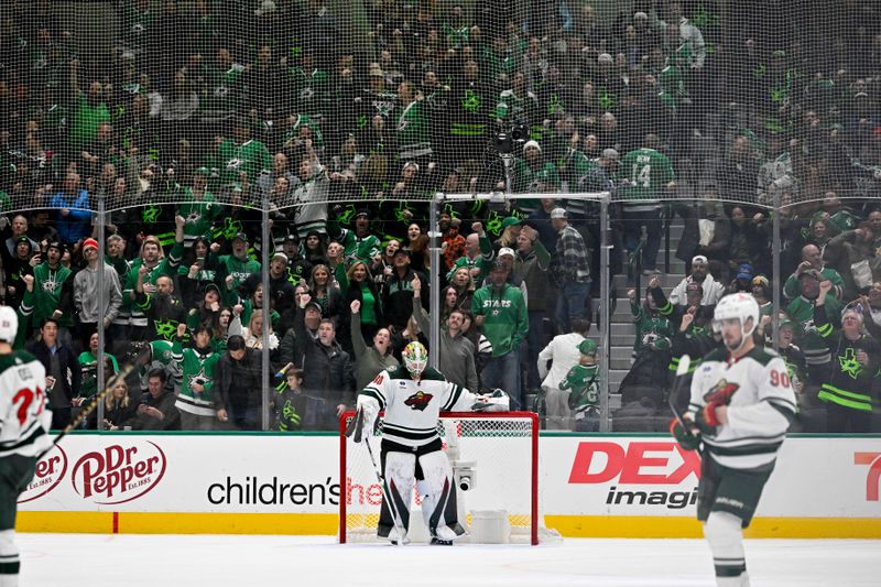
[[[732,391],[728,423],[716,435],[703,436],[710,457],[732,469],[771,466],[795,415],[795,393],[786,363],[771,349],[757,347],[740,359],[726,349],[704,358],[692,380],[689,411],[694,415],[706,398],[726,388]]]

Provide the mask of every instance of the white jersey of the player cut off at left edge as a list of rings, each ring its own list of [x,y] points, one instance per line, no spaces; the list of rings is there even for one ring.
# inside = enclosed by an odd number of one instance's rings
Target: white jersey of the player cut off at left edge
[[[46,370],[33,355],[0,355],[0,457],[33,457],[52,445],[45,390]]]

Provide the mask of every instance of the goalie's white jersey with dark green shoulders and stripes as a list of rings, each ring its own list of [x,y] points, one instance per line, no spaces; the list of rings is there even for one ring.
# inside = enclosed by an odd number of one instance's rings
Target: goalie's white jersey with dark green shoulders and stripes
[[[477,396],[447,381],[435,369],[425,369],[414,381],[404,367],[382,371],[358,395],[358,406],[385,410],[382,436],[405,446],[423,446],[435,438],[440,412],[468,412]]]

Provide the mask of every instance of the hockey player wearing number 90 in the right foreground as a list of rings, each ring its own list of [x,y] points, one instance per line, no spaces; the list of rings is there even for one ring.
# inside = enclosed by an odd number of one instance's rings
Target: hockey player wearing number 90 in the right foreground
[[[754,341],[759,319],[750,294],[719,301],[713,327],[725,348],[707,355],[694,374],[685,417],[690,430],[675,418],[671,423],[683,447],[701,447],[697,519],[704,522],[720,587],[749,586],[742,529],[755,513],[795,415],[786,365]]]

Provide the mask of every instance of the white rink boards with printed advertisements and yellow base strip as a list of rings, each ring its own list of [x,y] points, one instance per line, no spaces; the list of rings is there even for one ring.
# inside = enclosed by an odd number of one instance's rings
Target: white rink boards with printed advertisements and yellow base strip
[[[664,436],[540,441],[540,507],[564,535],[697,535],[699,475]],[[790,438],[751,532],[881,537],[880,481],[881,438]],[[342,498],[380,496],[363,483]],[[336,436],[73,435],[39,464],[19,530],[333,534],[339,499]]]

